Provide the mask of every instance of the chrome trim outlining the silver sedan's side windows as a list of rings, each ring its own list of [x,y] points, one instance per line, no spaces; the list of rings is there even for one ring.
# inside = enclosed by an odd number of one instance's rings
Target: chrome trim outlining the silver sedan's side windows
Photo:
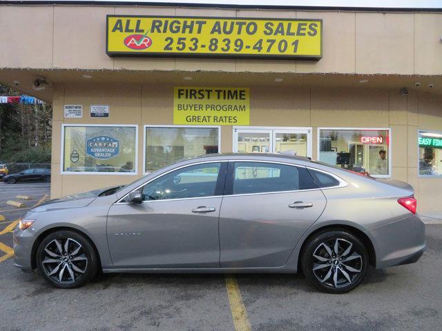
[[[218,160],[218,161],[202,161],[198,163],[190,163],[186,165],[182,165],[179,168],[174,168],[172,170],[169,170],[168,172],[164,172],[164,174],[160,174],[160,176],[157,176],[150,181],[146,181],[146,183],[143,183],[142,185],[138,186],[137,188],[133,189],[131,192],[140,190],[140,188],[144,187],[144,185],[147,185],[148,183],[151,183],[155,179],[158,179],[160,177],[163,177],[166,174],[169,174],[170,172],[173,172],[175,170],[180,170],[182,168],[186,168],[192,165],[198,165],[198,164],[204,164],[204,163],[220,163],[220,162],[255,162],[255,163],[273,163],[273,164],[282,164],[282,165],[290,165],[292,167],[299,167],[299,168],[307,168],[311,170],[315,170],[318,172],[323,172],[324,174],[328,174],[329,176],[332,176],[334,179],[336,179],[339,182],[339,185],[330,186],[329,188],[309,188],[307,190],[289,190],[289,191],[271,191],[271,192],[259,192],[259,193],[242,193],[242,194],[226,194],[226,195],[213,195],[210,197],[192,197],[192,198],[178,198],[178,199],[164,199],[164,200],[146,200],[142,201],[142,203],[150,203],[150,202],[161,202],[161,201],[179,201],[179,200],[193,200],[193,199],[208,199],[208,198],[219,198],[219,197],[240,197],[240,196],[248,196],[248,195],[259,195],[259,194],[280,194],[280,193],[292,193],[292,192],[306,192],[306,191],[317,191],[317,190],[329,190],[332,188],[345,188],[348,183],[344,181],[342,178],[336,176],[336,174],[332,174],[331,172],[327,172],[326,170],[318,169],[309,167],[308,165],[300,165],[296,163],[287,163],[287,162],[279,162],[279,161],[262,161],[262,160],[247,160],[247,159],[228,159],[228,160]],[[113,203],[114,205],[125,205],[131,202],[123,202],[126,197],[131,194],[131,192],[128,192],[124,197],[119,199],[117,202]]]

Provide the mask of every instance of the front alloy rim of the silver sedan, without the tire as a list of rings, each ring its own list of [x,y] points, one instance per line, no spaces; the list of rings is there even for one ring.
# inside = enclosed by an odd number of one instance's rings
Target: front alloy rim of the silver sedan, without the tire
[[[83,246],[72,238],[53,239],[43,250],[41,265],[46,275],[60,284],[79,281],[88,268]]]

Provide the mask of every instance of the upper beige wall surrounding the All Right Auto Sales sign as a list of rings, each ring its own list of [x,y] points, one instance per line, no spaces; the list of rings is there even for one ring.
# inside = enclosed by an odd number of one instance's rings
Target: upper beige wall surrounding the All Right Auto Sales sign
[[[104,52],[106,14],[319,18],[324,22],[324,58],[111,58]],[[0,45],[8,45],[8,50],[0,52],[0,68],[441,74],[441,27],[441,13],[425,12],[0,5]]]

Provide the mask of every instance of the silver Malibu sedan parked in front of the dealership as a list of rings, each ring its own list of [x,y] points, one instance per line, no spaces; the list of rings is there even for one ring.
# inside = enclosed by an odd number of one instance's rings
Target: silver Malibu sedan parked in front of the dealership
[[[129,185],[55,199],[14,232],[15,265],[59,288],[103,272],[301,271],[320,290],[416,262],[413,189],[304,157],[212,154]]]

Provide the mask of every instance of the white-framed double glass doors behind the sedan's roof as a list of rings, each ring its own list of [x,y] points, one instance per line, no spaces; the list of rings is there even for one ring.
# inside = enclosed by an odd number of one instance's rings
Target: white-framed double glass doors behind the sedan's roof
[[[310,128],[233,128],[233,152],[311,157]]]

